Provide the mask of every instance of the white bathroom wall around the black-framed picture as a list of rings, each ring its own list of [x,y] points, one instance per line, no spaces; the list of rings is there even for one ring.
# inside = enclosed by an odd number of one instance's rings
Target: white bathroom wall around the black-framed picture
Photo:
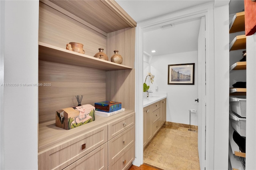
[[[195,63],[195,85],[168,85],[168,65]],[[198,108],[197,51],[160,55],[150,60],[151,73],[155,75],[150,90],[167,93],[166,121],[189,125],[189,110]],[[191,125],[197,124],[197,113],[191,114]]]

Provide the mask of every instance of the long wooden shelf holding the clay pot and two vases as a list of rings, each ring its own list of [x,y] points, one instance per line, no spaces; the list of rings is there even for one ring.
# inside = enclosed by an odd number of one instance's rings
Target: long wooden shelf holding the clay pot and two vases
[[[75,65],[79,67],[87,67],[106,71],[132,69],[132,67],[128,67],[126,65],[98,59],[96,57],[80,54],[46,43],[38,42],[38,45],[38,59],[42,61]]]

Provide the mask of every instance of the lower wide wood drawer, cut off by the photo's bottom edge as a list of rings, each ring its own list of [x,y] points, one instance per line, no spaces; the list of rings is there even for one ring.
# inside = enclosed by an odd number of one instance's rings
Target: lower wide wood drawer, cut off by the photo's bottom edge
[[[106,170],[107,168],[108,145],[105,143],[70,166],[64,168],[64,170]]]

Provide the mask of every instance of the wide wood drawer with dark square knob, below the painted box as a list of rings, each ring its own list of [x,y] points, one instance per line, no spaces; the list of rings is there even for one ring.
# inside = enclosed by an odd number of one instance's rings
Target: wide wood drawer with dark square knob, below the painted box
[[[54,148],[38,153],[38,169],[63,169],[108,141],[108,125],[84,132]],[[82,145],[85,146],[82,149]]]

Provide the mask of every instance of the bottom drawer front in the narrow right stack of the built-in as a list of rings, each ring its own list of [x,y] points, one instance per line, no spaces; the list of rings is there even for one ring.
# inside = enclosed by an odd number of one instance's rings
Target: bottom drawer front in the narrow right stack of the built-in
[[[108,170],[126,170],[135,159],[135,142],[127,148],[112,164],[108,166]]]

